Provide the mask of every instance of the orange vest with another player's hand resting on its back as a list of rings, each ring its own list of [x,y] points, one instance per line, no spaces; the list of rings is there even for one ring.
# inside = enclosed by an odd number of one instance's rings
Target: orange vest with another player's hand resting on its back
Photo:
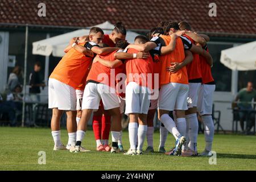
[[[166,45],[171,41],[171,37],[167,35],[160,36]],[[161,82],[160,85],[175,82],[179,84],[188,84],[188,74],[186,67],[179,69],[176,73],[170,73],[166,71],[167,67],[171,66],[171,63],[181,63],[185,59],[184,46],[181,38],[176,39],[176,46],[174,51],[167,55],[160,56],[161,61]]]

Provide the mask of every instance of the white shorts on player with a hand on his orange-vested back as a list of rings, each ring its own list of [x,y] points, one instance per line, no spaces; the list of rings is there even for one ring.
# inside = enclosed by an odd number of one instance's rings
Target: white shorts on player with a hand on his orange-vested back
[[[159,91],[158,109],[187,110],[188,85],[170,82]]]

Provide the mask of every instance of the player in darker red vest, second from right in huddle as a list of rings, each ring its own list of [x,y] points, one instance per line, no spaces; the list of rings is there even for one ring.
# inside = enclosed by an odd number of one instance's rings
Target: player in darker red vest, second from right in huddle
[[[189,23],[182,21],[179,23],[180,30],[186,30],[183,35],[188,38],[193,45],[200,43],[205,46],[206,41],[203,37],[191,32],[191,26]],[[201,46],[200,46],[201,47]],[[204,51],[201,52],[203,54]],[[200,57],[198,53],[193,53],[193,61],[187,65],[188,72],[188,110],[185,111],[185,117],[187,122],[186,138],[187,144],[183,149],[182,156],[196,156],[197,155],[197,135],[198,135],[198,120],[197,120],[197,100],[199,89],[202,82],[202,75],[200,69]]]

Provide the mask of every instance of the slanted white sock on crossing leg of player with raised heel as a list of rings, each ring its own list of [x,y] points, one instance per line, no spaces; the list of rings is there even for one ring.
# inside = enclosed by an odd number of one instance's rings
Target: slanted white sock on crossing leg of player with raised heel
[[[174,135],[175,139],[177,139],[180,135],[179,131],[177,130],[174,120],[168,115],[163,114],[160,117],[160,121],[163,123],[164,127],[172,134]]]

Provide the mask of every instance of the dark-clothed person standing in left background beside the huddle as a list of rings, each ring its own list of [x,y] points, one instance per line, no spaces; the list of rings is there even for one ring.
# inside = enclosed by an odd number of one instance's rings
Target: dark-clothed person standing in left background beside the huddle
[[[30,97],[33,102],[40,102],[40,87],[46,86],[40,78],[41,64],[37,61],[34,64],[34,71],[30,73]]]

